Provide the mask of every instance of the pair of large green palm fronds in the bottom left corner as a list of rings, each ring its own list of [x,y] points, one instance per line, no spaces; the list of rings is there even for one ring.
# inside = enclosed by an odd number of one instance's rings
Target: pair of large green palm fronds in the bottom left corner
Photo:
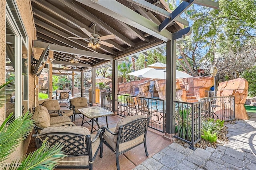
[[[17,119],[11,119],[11,113],[4,123],[0,126],[0,162],[8,159],[8,156],[16,150],[20,142],[24,140],[34,127],[32,121],[32,114],[26,112]],[[50,146],[50,143],[45,140],[40,148],[34,152],[22,157],[17,162],[12,162],[9,165],[16,165],[14,167],[6,166],[4,170],[53,170],[58,162],[64,159],[67,155],[61,151],[62,144]],[[4,166],[5,164],[2,164]]]

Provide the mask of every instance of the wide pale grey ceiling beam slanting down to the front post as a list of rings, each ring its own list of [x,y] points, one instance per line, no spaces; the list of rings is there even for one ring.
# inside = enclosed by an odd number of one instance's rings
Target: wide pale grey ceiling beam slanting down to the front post
[[[124,6],[116,0],[76,0],[86,6],[89,6],[95,10],[98,10],[116,20],[120,20],[134,28],[137,28],[143,32],[146,32],[160,40],[165,42],[172,40],[172,33],[168,30],[158,31],[158,25],[154,22],[146,19],[137,12],[134,12],[130,8]]]

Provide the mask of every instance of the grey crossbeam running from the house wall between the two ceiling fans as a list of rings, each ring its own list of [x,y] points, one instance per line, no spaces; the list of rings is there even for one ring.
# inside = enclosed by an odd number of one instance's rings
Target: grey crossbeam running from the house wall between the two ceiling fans
[[[74,48],[65,47],[65,46],[61,46],[61,45],[44,43],[44,42],[40,42],[37,40],[34,40],[33,42],[34,42],[34,47],[36,47],[36,48],[44,49],[47,45],[50,45],[50,50],[52,50],[52,51],[58,51],[58,52],[63,52],[63,53],[68,53],[68,54],[73,54],[73,55],[83,55],[83,56],[87,56],[87,57],[110,60],[110,61],[114,59],[114,56],[112,56],[112,55],[99,54],[99,53],[94,53],[94,52],[86,51],[86,50],[82,50],[82,49],[74,49]]]

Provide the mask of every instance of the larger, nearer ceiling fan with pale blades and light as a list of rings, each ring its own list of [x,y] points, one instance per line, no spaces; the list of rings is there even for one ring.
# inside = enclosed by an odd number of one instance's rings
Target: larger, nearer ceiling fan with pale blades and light
[[[95,26],[96,24],[93,24],[94,26],[94,33],[90,33],[85,28],[80,28],[89,38],[80,38],[80,37],[68,37],[72,39],[81,39],[81,40],[89,40],[88,47],[92,47],[93,49],[96,49],[97,47],[100,47],[100,44],[106,45],[108,47],[114,47],[113,44],[108,42],[103,42],[102,40],[110,40],[116,38],[115,35],[110,34],[107,36],[100,37],[98,34],[95,34]]]

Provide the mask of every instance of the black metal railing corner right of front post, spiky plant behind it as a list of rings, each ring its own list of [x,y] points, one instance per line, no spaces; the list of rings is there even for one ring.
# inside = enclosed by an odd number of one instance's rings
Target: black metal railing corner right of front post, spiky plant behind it
[[[195,144],[201,140],[201,102],[175,103],[175,138],[190,144],[190,149],[195,150]]]

